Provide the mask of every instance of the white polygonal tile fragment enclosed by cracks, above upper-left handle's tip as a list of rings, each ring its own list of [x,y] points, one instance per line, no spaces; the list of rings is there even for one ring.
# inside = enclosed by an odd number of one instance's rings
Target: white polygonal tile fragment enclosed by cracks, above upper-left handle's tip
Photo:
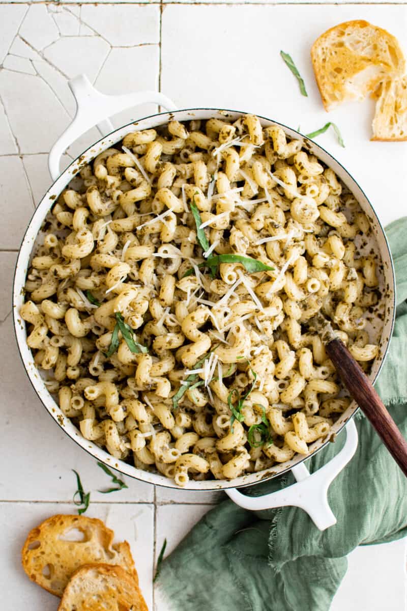
[[[110,47],[97,36],[60,38],[44,51],[44,56],[68,78],[84,72],[94,81]]]

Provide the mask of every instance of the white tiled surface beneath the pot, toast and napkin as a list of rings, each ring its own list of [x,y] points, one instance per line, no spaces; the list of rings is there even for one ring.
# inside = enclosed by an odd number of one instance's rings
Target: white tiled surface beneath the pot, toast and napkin
[[[316,2],[315,2],[316,4]],[[67,80],[81,71],[104,93],[160,89],[179,107],[212,105],[271,116],[304,132],[334,120],[346,148],[326,133],[320,142],[359,179],[384,223],[407,213],[405,144],[369,141],[373,103],[344,106],[329,119],[312,77],[309,48],[326,28],[351,18],[380,24],[407,51],[407,7],[393,4],[273,2],[0,2],[0,345],[3,458],[0,477],[0,575],[4,609],[56,609],[20,568],[25,533],[52,513],[74,511],[71,469],[92,490],[89,515],[107,521],[131,543],[146,601],[153,609],[154,557],[167,551],[222,498],[156,489],[126,478],[129,488],[103,496],[106,476],[95,461],[57,428],[37,400],[18,356],[10,316],[16,250],[35,205],[50,183],[46,155],[75,111]],[[279,59],[292,54],[309,97]],[[239,86],[237,86],[239,82]],[[154,112],[147,104],[113,119],[121,125]],[[98,139],[93,129],[63,159]],[[386,180],[386,177],[392,180]],[[18,452],[15,451],[18,448]],[[109,501],[109,503],[107,503]],[[349,570],[333,611],[403,611],[404,541],[364,547],[349,557]],[[165,611],[156,596],[155,609]]]

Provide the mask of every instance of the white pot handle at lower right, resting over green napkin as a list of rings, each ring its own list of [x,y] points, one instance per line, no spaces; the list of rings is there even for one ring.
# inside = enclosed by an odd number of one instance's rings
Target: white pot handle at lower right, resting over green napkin
[[[304,463],[292,467],[292,474],[297,483],[283,490],[264,494],[259,497],[245,496],[236,488],[226,489],[230,499],[240,507],[258,511],[292,505],[300,507],[314,522],[319,530],[325,530],[336,524],[336,518],[328,505],[328,488],[339,472],[350,461],[358,446],[358,431],[355,422],[350,420],[346,426],[345,445],[333,459],[323,467],[309,474]]]

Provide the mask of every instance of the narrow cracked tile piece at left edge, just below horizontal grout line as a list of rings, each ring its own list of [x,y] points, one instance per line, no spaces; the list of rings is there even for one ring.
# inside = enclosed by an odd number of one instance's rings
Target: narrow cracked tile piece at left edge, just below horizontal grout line
[[[2,249],[20,247],[24,231],[33,213],[32,198],[20,157],[0,157],[0,202]]]

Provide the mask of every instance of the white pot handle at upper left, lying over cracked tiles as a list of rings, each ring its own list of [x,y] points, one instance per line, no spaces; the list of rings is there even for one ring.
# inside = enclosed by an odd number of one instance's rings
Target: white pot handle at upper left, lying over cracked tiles
[[[83,74],[68,81],[68,86],[76,100],[76,114],[49,152],[48,169],[52,180],[57,180],[59,177],[61,157],[72,142],[94,125],[97,126],[102,136],[107,136],[114,130],[109,117],[117,112],[147,102],[160,104],[168,111],[176,110],[176,106],[170,98],[157,91],[106,95],[95,89],[87,76]]]

